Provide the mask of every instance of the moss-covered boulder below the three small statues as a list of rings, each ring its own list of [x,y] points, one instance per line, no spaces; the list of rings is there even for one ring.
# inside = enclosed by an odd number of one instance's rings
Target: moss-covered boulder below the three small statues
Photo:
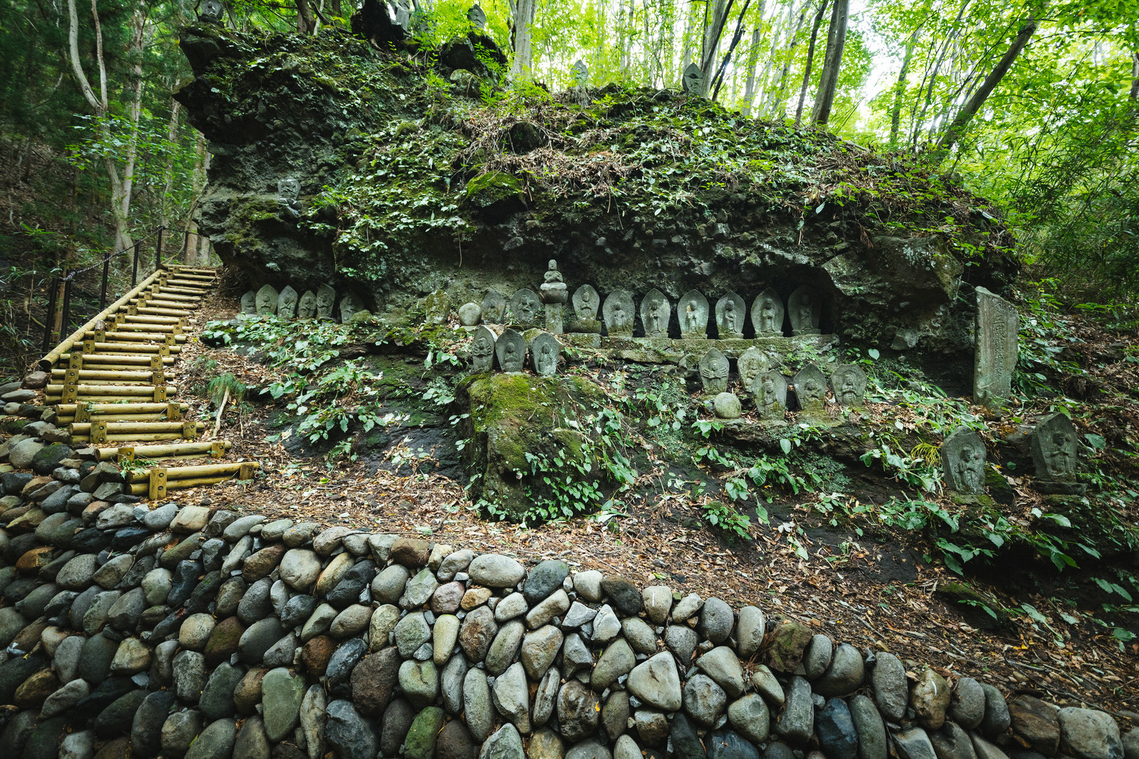
[[[584,433],[566,422],[604,399],[605,392],[583,377],[491,374],[460,383],[457,400],[469,414],[464,456],[474,475],[472,497],[506,519],[527,519],[531,496],[543,488],[527,454],[584,462]]]

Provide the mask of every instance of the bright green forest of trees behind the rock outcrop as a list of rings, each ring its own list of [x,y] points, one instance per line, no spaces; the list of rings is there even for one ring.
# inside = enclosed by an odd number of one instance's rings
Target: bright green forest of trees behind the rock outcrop
[[[465,33],[469,0],[407,7],[429,50]],[[1139,291],[1139,0],[485,0],[510,55],[508,87],[679,88],[741,116],[823,129],[993,199],[1018,238],[1025,283],[1068,303]],[[392,13],[398,8],[392,6]],[[349,0],[237,0],[245,32],[335,34]],[[0,3],[0,375],[58,332],[58,275],[108,253],[112,291],[131,252],[208,261],[195,214],[210,153],[172,93],[190,76],[185,0]],[[506,81],[506,80],[505,80]],[[489,97],[494,97],[493,92]],[[75,279],[76,304],[99,300]],[[88,308],[88,311],[92,309]],[[71,319],[83,318],[82,308]],[[69,332],[69,329],[67,330]],[[66,333],[65,333],[66,334]]]

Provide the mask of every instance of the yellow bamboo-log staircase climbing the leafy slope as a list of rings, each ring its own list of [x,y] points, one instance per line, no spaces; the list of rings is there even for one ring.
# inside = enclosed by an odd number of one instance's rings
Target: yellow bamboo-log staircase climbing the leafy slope
[[[215,280],[214,269],[164,264],[43,357],[52,423],[66,425],[73,443],[95,447],[100,460],[222,458],[232,443],[198,441],[205,425],[186,418],[189,405],[169,382],[189,320]],[[256,468],[254,462],[150,466],[128,468],[125,479],[131,493],[157,500],[167,490],[247,480]]]

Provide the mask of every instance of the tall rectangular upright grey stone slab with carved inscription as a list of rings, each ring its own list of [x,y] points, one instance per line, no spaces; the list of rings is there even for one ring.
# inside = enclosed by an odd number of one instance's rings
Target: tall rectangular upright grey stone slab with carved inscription
[[[977,287],[976,348],[973,353],[973,402],[1000,408],[1013,391],[1021,318],[1016,307]]]

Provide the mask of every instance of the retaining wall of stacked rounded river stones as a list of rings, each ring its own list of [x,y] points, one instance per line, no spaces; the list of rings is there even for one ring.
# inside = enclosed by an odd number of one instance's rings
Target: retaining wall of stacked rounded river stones
[[[3,757],[1139,756],[1103,711],[908,674],[756,606],[560,561],[527,571],[344,527],[151,511],[87,452],[2,475]]]

